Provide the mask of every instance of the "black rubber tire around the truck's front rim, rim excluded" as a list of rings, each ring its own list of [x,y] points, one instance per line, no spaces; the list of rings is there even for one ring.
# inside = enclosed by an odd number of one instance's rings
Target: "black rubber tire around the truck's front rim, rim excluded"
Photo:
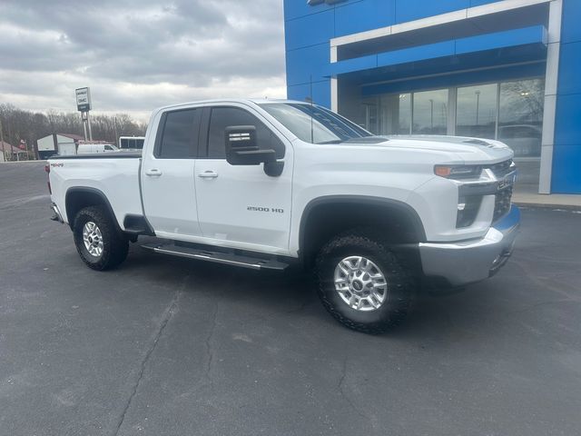
[[[349,256],[363,256],[375,263],[387,282],[387,296],[378,309],[356,310],[344,302],[335,289],[335,268]],[[323,245],[315,263],[320,301],[341,324],[358,332],[379,334],[402,322],[411,310],[416,284],[409,270],[399,262],[380,237],[365,229],[341,233]]]

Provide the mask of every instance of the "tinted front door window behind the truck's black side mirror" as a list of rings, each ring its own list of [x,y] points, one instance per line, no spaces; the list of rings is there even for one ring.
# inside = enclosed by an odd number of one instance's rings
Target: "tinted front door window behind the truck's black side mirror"
[[[238,107],[213,107],[208,132],[208,157],[226,158],[226,127],[232,125],[256,126],[256,141],[261,149],[276,151],[277,159],[284,157],[284,144],[266,125],[253,114]]]

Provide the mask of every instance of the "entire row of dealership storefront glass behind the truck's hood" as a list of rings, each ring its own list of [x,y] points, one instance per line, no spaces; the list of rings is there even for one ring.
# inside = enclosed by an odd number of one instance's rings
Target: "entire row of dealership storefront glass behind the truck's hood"
[[[517,158],[538,159],[543,79],[460,86],[456,91],[455,134],[498,139]],[[373,95],[359,100],[359,112],[361,125],[374,134],[452,133],[448,132],[448,88]]]

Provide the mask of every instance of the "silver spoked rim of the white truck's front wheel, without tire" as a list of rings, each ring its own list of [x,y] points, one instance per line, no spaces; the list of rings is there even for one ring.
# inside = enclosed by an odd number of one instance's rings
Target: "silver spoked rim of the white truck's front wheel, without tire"
[[[335,267],[335,290],[351,309],[375,311],[387,300],[388,283],[378,265],[361,256],[346,257]]]

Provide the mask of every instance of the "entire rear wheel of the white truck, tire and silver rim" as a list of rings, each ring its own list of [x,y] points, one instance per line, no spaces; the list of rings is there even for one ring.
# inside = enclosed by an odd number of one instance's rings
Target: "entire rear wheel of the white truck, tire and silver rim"
[[[129,242],[103,206],[79,211],[74,218],[73,235],[77,252],[91,269],[110,270],[127,258]]]

